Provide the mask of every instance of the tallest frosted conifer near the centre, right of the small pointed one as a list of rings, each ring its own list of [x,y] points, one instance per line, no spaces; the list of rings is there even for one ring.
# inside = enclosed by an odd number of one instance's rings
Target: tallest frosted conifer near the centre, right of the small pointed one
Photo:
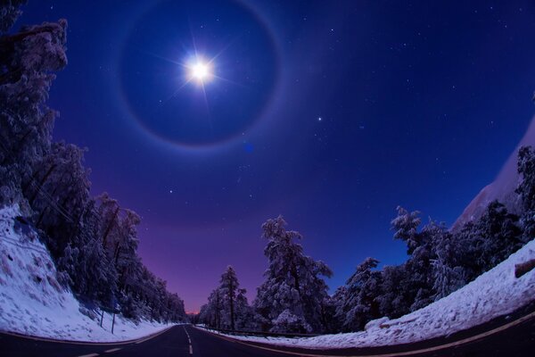
[[[281,216],[262,225],[262,237],[268,241],[264,254],[269,265],[264,273],[266,279],[257,289],[254,307],[262,318],[271,321],[265,328],[322,331],[327,286],[321,277],[331,277],[332,271],[324,262],[305,255],[296,242],[301,239],[300,233],[287,231],[285,226]],[[288,319],[292,320],[291,324],[287,323]]]

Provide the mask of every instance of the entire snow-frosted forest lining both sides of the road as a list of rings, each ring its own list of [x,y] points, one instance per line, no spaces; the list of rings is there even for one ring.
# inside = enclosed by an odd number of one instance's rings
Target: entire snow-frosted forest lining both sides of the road
[[[136,212],[107,193],[90,195],[85,148],[54,142],[58,113],[45,102],[55,72],[67,65],[67,21],[9,32],[20,15],[0,4],[0,205],[17,205],[36,228],[61,282],[78,299],[133,320],[178,322],[184,302],[148,270],[137,253]],[[196,319],[212,328],[271,332],[357,331],[383,316],[397,318],[465,286],[504,261],[535,234],[535,151],[518,153],[521,181],[515,212],[492,202],[477,220],[451,230],[397,209],[393,237],[407,245],[407,261],[379,269],[360,262],[344,286],[329,294],[332,270],[306,255],[300,233],[282,216],[261,227],[268,269],[249,303],[232,266],[221,275]]]

